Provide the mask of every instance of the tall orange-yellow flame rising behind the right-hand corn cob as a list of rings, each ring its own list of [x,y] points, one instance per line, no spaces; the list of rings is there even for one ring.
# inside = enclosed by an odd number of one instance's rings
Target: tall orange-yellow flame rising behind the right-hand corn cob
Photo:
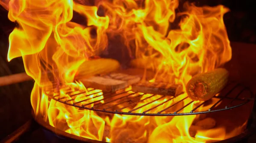
[[[191,70],[207,72],[231,59],[223,21],[229,10],[224,6],[196,7],[184,3],[184,12],[175,14],[178,0],[145,0],[143,4],[133,0],[99,3],[111,17],[108,30],[121,34],[137,58],[160,58],[160,65],[155,68],[161,74],[186,84]],[[175,17],[180,19],[179,28],[172,28]],[[172,81],[170,78],[169,82]]]

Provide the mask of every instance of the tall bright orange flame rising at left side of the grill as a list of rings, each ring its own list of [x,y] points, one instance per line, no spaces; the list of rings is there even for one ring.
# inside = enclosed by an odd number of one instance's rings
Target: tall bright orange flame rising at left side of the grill
[[[87,17],[86,26],[71,22],[73,10]],[[26,73],[39,85],[49,81],[45,71],[58,70],[55,78],[73,81],[65,73],[106,48],[109,18],[96,13],[96,6],[72,0],[10,0],[8,17],[18,26],[9,36],[8,60],[22,56]]]

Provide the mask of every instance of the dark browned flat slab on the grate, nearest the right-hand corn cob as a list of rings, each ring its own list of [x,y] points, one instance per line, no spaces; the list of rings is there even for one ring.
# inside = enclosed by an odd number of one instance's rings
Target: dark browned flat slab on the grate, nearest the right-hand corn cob
[[[156,95],[176,96],[182,93],[181,85],[170,85],[168,83],[150,83],[148,81],[140,82],[131,86],[132,91]]]

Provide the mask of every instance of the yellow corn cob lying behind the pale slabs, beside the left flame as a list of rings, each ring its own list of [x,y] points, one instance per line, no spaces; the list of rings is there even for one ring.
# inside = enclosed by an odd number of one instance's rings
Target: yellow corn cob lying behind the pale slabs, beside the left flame
[[[88,77],[97,74],[110,73],[118,70],[120,64],[114,59],[93,59],[83,62],[77,73],[76,77]]]

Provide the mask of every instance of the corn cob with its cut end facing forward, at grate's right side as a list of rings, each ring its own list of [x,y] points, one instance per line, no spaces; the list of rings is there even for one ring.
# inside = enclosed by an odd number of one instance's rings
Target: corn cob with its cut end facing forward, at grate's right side
[[[187,83],[186,92],[194,101],[207,101],[226,86],[228,76],[224,68],[195,75]]]

